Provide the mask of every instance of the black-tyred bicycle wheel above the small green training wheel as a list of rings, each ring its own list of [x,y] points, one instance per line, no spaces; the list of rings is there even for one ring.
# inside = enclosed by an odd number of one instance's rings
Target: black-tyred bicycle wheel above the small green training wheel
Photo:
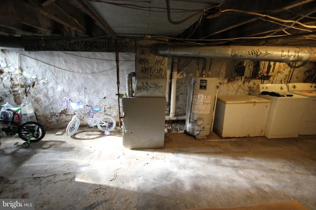
[[[44,126],[41,125],[39,122],[25,122],[19,125],[17,133],[19,137],[24,141],[30,142],[38,142],[45,136],[45,129]]]

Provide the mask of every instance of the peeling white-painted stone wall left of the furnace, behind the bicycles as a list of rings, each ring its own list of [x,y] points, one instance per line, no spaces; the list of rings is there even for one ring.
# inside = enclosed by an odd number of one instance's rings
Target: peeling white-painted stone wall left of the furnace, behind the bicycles
[[[64,111],[62,106],[64,96],[74,101],[86,100],[88,104],[118,117],[115,53],[7,49],[1,51],[0,66],[3,69],[0,102],[14,101],[19,105],[20,85],[31,85],[29,100],[44,124],[70,119],[71,110]],[[120,53],[119,93],[126,92],[125,76],[129,72],[135,72],[135,55]]]

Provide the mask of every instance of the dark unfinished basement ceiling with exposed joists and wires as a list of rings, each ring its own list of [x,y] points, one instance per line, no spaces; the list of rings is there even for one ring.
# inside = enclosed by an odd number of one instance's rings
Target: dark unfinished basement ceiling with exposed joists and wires
[[[153,37],[316,46],[316,0],[1,0],[0,39]]]

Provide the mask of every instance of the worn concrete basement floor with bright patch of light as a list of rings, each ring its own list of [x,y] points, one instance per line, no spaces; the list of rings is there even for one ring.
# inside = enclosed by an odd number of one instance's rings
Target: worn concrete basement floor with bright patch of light
[[[166,133],[165,149],[128,150],[122,135],[48,129],[22,148],[2,137],[0,198],[35,209],[184,210],[297,200],[316,210],[316,136],[196,139]],[[57,135],[62,134],[62,135]]]

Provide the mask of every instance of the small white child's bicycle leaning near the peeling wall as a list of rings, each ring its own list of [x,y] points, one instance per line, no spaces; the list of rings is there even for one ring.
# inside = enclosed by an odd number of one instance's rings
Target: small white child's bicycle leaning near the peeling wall
[[[91,105],[82,104],[81,101],[73,102],[70,98],[64,97],[63,106],[67,108],[68,102],[70,102],[70,106],[75,110],[75,115],[66,128],[66,134],[68,136],[77,132],[80,125],[80,119],[86,121],[90,127],[97,126],[105,135],[109,135],[110,131],[115,128],[116,121],[114,118],[100,112],[100,108],[93,108]],[[84,107],[90,107],[90,111],[85,113]]]

